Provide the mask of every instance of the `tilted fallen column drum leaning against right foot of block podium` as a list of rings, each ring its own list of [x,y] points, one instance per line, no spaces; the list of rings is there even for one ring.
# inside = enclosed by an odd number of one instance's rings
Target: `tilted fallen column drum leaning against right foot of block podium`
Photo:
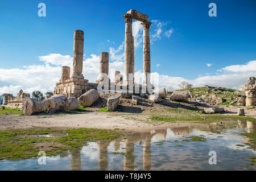
[[[79,98],[79,104],[82,106],[90,106],[92,105],[96,100],[100,98],[100,94],[96,89],[90,89],[88,92],[85,92],[82,94]]]

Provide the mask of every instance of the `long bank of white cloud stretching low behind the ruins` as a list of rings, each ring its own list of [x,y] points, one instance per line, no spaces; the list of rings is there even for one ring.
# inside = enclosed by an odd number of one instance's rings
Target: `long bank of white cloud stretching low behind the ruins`
[[[121,71],[121,74],[124,74],[124,62],[123,57],[117,59],[118,53],[122,49],[122,46],[119,46],[117,50],[113,50],[112,55],[113,61],[109,63],[109,77],[114,80],[114,72]],[[50,54],[47,56],[39,56],[39,59],[43,62],[42,65],[27,65],[23,69],[0,69],[0,94],[3,93],[13,93],[16,96],[16,93],[20,89],[23,89],[24,92],[32,93],[34,90],[41,90],[42,92],[53,91],[55,83],[59,81],[61,76],[61,66],[60,65],[70,65],[71,56],[63,56],[60,54]],[[64,62],[62,63],[61,61]],[[65,63],[65,64],[64,64]],[[227,88],[240,89],[240,85],[246,84],[246,80],[250,76],[255,76],[256,61],[249,61],[246,64],[241,65],[230,65],[225,68],[221,68],[220,71],[222,74],[207,75],[201,76],[193,79],[187,80],[183,77],[172,77],[169,75],[160,75],[157,72],[152,73],[152,76],[159,77],[159,81],[153,82],[160,87],[168,88],[171,86],[174,89],[178,89],[177,85],[181,81],[188,81],[193,84],[193,86],[203,86],[203,85],[215,85],[215,86],[224,86]],[[50,65],[51,64],[51,65]],[[158,67],[160,64],[157,64]],[[84,66],[83,66],[83,75],[85,79],[88,79],[89,82],[95,82],[98,79],[100,73],[100,56],[99,55],[90,55],[85,56]],[[221,72],[218,72],[221,73]],[[72,75],[72,67],[71,67]],[[135,81],[142,82],[143,72],[141,70],[135,72]],[[159,82],[159,83],[158,83]]]

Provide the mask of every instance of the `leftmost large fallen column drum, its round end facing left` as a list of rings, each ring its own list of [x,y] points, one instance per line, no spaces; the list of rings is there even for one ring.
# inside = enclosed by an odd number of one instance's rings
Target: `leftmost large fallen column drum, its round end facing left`
[[[40,113],[46,109],[44,102],[36,98],[26,97],[23,101],[22,112],[24,115]]]

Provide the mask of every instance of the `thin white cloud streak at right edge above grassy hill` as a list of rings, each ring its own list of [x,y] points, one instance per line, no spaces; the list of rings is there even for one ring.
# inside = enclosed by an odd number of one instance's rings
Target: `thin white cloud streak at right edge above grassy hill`
[[[256,60],[249,61],[246,64],[237,64],[237,65],[230,65],[225,68],[221,68],[218,70],[219,72],[256,72]]]

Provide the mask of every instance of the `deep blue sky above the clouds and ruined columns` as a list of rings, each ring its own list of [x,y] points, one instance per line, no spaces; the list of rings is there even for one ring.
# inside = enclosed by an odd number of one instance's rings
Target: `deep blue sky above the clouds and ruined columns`
[[[46,4],[46,17],[38,16],[40,2]],[[208,15],[211,2],[217,5],[217,17]],[[151,38],[151,72],[195,80],[215,76],[217,70],[225,67],[256,60],[254,0],[1,1],[0,69],[8,72],[15,68],[20,72],[27,69],[24,66],[45,65],[47,61],[40,60],[39,56],[50,54],[72,57],[76,29],[84,31],[85,59],[92,54],[110,52],[110,48],[117,50],[125,39],[122,15],[130,9],[141,11],[150,21],[155,21],[150,30],[151,36],[155,35]],[[165,32],[170,30],[172,34],[168,37]],[[120,49],[117,55],[122,53]],[[115,59],[117,55],[113,55],[110,62],[123,61]],[[211,64],[210,67],[207,64]],[[135,71],[142,70],[142,65],[142,42],[138,41]],[[256,72],[256,68],[250,71]],[[84,76],[86,78],[86,70]],[[23,87],[13,78],[0,76],[0,88],[10,85]],[[52,89],[52,86],[42,89]]]

